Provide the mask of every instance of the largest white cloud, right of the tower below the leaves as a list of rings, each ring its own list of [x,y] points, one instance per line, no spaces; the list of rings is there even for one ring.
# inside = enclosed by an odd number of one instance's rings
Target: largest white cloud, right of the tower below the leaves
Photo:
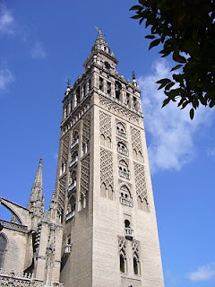
[[[166,96],[163,90],[157,91],[158,84],[155,82],[170,77],[170,69],[166,60],[159,60],[152,65],[152,74],[138,80],[142,90],[144,123],[151,138],[148,151],[152,172],[180,170],[191,161],[194,134],[210,115],[209,109],[200,107],[192,121],[189,109],[180,110],[174,102],[161,109]]]

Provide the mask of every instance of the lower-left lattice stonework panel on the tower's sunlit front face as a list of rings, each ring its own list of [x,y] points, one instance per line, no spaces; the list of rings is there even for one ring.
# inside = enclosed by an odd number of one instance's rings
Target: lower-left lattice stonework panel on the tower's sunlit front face
[[[100,149],[100,182],[114,187],[113,153],[103,148]]]

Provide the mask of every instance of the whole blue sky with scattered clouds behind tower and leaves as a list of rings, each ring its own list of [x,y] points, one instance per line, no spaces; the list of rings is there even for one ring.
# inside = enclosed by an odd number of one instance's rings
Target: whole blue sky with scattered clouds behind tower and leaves
[[[97,37],[136,72],[150,154],[166,287],[215,286],[214,110],[160,109],[155,82],[171,58],[148,51],[146,31],[129,19],[134,1],[0,1],[1,196],[26,205],[39,157],[46,203],[55,187],[61,100],[67,79],[82,74]]]

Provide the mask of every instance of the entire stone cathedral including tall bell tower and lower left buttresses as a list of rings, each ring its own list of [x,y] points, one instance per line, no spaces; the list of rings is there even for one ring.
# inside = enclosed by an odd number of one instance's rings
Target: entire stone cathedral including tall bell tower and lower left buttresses
[[[42,159],[27,207],[0,198],[0,286],[164,286],[141,91],[117,62],[99,30],[64,93],[49,210]]]

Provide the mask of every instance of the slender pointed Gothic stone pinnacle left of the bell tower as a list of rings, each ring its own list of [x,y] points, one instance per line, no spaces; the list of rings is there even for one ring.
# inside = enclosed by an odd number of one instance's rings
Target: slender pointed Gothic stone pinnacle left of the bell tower
[[[39,159],[39,167],[31,188],[28,209],[34,213],[42,213],[44,210],[43,179],[42,179],[42,158]],[[38,214],[39,215],[39,214]]]

